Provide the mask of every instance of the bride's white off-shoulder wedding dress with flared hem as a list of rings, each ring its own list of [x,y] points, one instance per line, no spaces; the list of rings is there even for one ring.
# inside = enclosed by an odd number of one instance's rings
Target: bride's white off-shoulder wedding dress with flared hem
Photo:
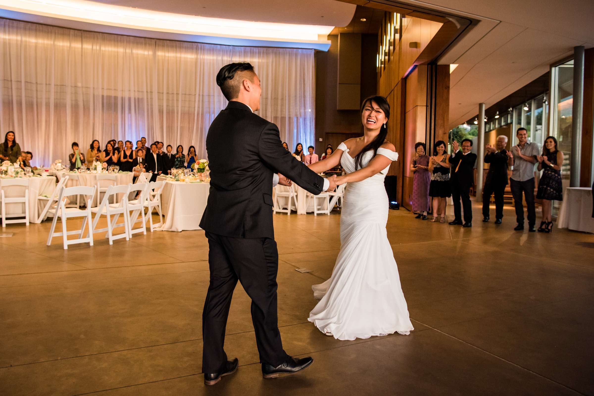
[[[355,159],[344,143],[340,163],[355,172]],[[395,161],[398,154],[379,148],[378,155]],[[373,151],[363,155],[366,166]],[[388,166],[389,167],[389,166]],[[312,286],[319,300],[308,320],[338,340],[369,338],[413,330],[398,268],[388,242],[388,196],[381,173],[346,187],[340,214],[340,252],[330,279]]]

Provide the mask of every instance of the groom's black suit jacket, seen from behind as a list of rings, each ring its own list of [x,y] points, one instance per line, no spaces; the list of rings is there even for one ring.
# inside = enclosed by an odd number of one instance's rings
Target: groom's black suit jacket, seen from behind
[[[324,179],[295,161],[279,129],[241,102],[229,102],[206,137],[210,195],[200,227],[222,236],[274,238],[272,179],[282,173],[318,195]]]

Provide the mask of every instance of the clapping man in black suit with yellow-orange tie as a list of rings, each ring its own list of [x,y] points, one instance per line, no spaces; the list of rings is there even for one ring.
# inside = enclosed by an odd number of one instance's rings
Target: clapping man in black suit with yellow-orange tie
[[[474,166],[476,154],[470,153],[472,140],[462,141],[462,150],[459,144],[454,141],[452,144],[453,153],[450,156],[451,163],[451,198],[454,200],[454,221],[451,225],[462,225],[472,227],[472,202],[470,202],[470,186],[474,182]],[[464,207],[464,223],[462,223],[462,211],[460,210],[460,198]]]

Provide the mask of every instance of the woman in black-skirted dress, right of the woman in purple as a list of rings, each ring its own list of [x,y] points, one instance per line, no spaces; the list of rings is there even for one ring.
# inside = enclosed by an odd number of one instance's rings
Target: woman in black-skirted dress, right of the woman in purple
[[[429,172],[431,172],[431,183],[429,184],[429,197],[432,199],[433,218],[440,223],[445,223],[445,207],[447,199],[451,197],[450,188],[450,163],[449,154],[445,152],[445,142],[438,140],[433,146],[433,156],[429,159]]]

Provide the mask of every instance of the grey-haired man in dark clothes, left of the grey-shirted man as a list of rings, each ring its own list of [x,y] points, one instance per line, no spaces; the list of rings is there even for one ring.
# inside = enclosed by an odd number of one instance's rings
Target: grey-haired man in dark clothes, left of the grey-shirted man
[[[505,150],[507,136],[497,137],[495,147],[490,144],[485,147],[485,163],[491,164],[485,178],[483,189],[483,221],[489,221],[489,203],[491,194],[495,194],[495,224],[501,224],[503,218],[503,192],[507,186],[507,161],[510,154]]]

